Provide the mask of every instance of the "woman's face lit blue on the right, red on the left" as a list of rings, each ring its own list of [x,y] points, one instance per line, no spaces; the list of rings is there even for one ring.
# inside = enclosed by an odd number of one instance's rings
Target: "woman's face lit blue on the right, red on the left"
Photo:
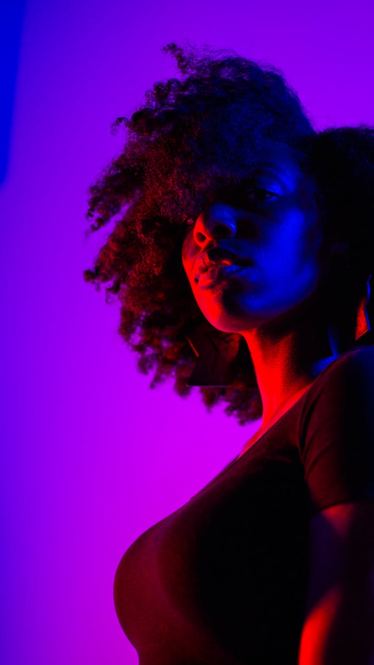
[[[254,176],[218,194],[183,241],[197,304],[225,332],[288,313],[316,291],[324,270],[312,180],[285,144],[266,140],[256,156]]]

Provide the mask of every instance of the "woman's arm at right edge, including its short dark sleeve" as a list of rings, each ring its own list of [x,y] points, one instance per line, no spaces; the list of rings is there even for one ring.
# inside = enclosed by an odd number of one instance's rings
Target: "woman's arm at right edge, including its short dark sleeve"
[[[299,665],[374,665],[374,348],[327,368],[300,457],[310,569]]]

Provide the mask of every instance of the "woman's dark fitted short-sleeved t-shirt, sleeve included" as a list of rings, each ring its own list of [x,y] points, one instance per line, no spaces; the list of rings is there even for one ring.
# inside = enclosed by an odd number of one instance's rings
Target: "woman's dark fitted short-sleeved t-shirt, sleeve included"
[[[297,665],[309,519],[361,497],[374,497],[371,346],[333,360],[126,551],[114,601],[140,665]]]

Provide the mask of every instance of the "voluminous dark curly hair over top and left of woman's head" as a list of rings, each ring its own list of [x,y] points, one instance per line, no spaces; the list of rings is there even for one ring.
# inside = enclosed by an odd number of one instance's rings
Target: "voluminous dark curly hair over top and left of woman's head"
[[[308,168],[316,132],[276,68],[232,51],[173,43],[163,50],[177,61],[179,78],[156,82],[130,119],[117,118],[112,129],[124,128],[124,149],[89,189],[87,218],[94,223],[88,233],[119,218],[84,279],[98,289],[110,282],[106,301],[116,295],[121,303],[118,332],[139,354],[140,372],[155,368],[150,387],[172,376],[185,397],[196,360],[187,336],[202,322],[218,332],[197,306],[183,269],[185,219],[197,217],[222,187],[248,178],[263,138],[284,142]],[[329,152],[328,138],[316,144],[314,164],[325,146]],[[200,391],[209,411],[223,400],[225,413],[244,425],[260,418],[262,404],[246,342],[233,337],[239,352],[230,385]]]

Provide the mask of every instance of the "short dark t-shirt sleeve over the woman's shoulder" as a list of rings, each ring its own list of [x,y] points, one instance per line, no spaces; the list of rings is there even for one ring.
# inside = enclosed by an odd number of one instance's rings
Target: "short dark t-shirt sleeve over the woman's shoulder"
[[[310,516],[374,498],[374,348],[343,354],[317,381],[299,432]]]

